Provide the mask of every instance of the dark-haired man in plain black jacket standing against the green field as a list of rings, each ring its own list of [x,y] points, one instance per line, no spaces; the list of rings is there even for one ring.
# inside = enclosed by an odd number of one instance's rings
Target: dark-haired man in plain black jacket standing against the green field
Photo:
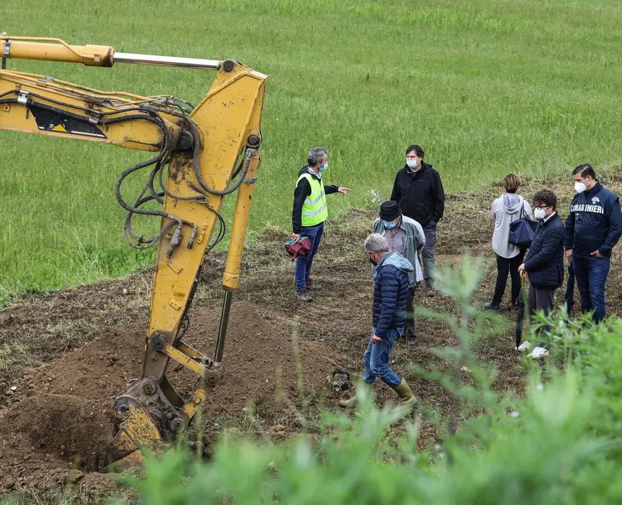
[[[440,175],[424,163],[424,150],[413,144],[406,148],[406,164],[395,175],[391,200],[399,203],[404,216],[422,225],[426,245],[422,249],[428,296],[434,296],[434,245],[436,225],[445,210],[445,192]]]

